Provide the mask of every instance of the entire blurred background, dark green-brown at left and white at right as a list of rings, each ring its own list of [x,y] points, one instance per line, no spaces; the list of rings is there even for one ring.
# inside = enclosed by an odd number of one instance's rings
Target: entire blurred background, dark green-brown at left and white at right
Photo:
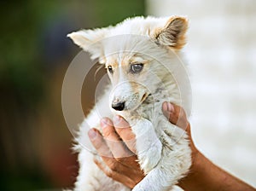
[[[189,17],[195,143],[209,159],[256,186],[256,3],[253,0],[2,1],[0,190],[61,190],[77,176],[61,85],[80,49],[80,28],[128,16]],[[93,97],[82,97],[84,114]],[[72,102],[72,101],[71,101]]]

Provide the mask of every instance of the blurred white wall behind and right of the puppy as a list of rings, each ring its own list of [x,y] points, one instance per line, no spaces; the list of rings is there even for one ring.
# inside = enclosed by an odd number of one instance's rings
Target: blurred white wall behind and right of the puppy
[[[192,130],[215,164],[256,186],[256,1],[148,0],[148,14],[189,17]]]

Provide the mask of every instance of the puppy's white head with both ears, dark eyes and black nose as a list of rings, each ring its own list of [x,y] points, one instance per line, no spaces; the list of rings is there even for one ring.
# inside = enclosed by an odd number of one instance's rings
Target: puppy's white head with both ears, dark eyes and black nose
[[[156,78],[164,71],[158,60],[182,49],[187,28],[187,19],[180,16],[135,17],[117,26],[67,36],[105,65],[113,84],[110,105],[125,111],[139,107],[159,88]]]

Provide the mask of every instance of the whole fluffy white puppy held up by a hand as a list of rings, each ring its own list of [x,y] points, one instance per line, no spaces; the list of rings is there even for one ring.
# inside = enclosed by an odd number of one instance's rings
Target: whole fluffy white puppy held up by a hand
[[[83,146],[88,126],[99,128],[104,117],[96,109],[108,117],[123,116],[136,135],[137,158],[146,177],[133,191],[171,190],[188,173],[187,136],[161,112],[164,101],[181,105],[186,100],[186,73],[179,57],[187,28],[187,19],[180,16],[135,17],[117,26],[68,34],[106,66],[112,84],[80,126],[75,190],[130,190],[100,171],[94,163],[96,154]],[[110,108],[106,108],[108,103]]]

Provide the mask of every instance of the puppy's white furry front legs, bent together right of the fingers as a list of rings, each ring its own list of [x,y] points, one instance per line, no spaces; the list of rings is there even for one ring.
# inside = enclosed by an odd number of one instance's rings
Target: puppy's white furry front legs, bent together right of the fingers
[[[189,171],[191,165],[189,142],[185,139],[185,135],[170,136],[171,130],[160,137],[160,140],[165,142],[162,144],[155,135],[152,124],[148,122],[143,119],[133,127],[136,135],[139,135],[137,136],[138,159],[143,170],[148,173],[132,190],[169,191]]]

